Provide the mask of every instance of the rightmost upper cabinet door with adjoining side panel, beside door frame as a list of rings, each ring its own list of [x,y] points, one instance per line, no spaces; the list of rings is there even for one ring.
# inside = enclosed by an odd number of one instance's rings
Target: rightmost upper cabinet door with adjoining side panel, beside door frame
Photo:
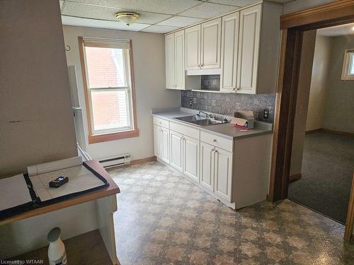
[[[265,1],[239,13],[236,93],[275,93],[282,6]]]

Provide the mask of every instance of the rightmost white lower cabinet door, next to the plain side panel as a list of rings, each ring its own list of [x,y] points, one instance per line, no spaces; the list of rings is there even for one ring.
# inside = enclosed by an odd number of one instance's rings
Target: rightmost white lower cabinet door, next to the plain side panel
[[[232,153],[221,148],[215,149],[215,189],[214,192],[231,202]]]

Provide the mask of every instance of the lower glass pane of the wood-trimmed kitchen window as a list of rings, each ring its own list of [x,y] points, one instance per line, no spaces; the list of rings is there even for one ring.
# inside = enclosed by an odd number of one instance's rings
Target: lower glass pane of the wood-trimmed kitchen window
[[[93,134],[132,129],[129,90],[91,89]]]

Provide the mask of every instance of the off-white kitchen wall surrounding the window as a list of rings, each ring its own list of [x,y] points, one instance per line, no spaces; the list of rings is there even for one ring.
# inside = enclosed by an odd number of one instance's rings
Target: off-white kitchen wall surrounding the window
[[[72,48],[67,52],[67,64],[76,66],[80,102],[81,107],[84,108],[84,88],[77,37],[110,37],[132,40],[139,137],[90,145],[87,142],[88,153],[92,158],[105,158],[110,155],[130,153],[132,160],[154,155],[151,109],[154,107],[181,106],[180,91],[165,89],[164,35],[65,25],[63,29],[65,45]],[[84,113],[86,115],[85,111]],[[84,121],[87,141],[86,116]]]

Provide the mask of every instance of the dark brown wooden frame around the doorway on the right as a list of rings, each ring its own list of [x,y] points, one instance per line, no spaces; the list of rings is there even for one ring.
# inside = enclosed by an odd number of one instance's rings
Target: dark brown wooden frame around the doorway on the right
[[[354,23],[354,2],[335,1],[324,6],[290,13],[280,19],[282,45],[273,135],[273,156],[268,199],[288,196],[293,131],[304,33],[335,25]],[[350,193],[346,240],[350,240],[354,220],[354,192]]]

